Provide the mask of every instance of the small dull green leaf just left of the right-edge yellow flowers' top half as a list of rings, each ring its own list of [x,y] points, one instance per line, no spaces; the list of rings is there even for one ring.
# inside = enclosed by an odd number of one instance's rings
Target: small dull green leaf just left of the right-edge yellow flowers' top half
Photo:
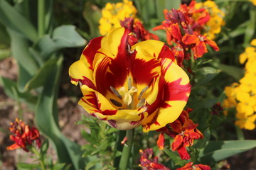
[[[218,64],[218,69],[225,72],[226,74],[230,75],[236,80],[240,80],[244,76],[244,70],[235,67],[235,66],[229,66],[225,64]]]

